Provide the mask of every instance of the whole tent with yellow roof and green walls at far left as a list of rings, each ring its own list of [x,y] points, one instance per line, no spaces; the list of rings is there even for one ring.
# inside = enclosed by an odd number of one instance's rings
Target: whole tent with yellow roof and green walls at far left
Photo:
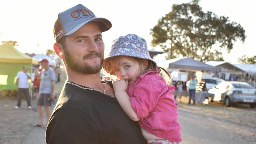
[[[38,64],[38,61],[22,54],[9,42],[0,45],[0,89],[16,90],[17,73],[26,65],[31,74],[33,64]]]

